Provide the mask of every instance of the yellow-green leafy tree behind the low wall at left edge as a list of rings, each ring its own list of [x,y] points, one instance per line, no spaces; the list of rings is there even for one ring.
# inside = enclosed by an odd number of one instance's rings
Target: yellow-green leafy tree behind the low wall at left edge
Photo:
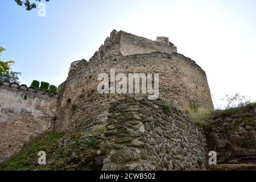
[[[0,46],[0,53],[5,51],[5,48]],[[1,56],[1,55],[0,55]],[[11,65],[15,64],[15,61],[2,61],[0,59],[0,81],[18,82],[20,72],[11,71]],[[19,82],[18,82],[19,83]]]

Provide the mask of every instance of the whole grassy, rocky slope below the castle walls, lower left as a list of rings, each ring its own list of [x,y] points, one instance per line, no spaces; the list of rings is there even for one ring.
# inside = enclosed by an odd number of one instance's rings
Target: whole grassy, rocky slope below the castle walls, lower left
[[[0,164],[0,171],[82,170],[98,156],[101,141],[102,138],[92,129],[77,128],[65,134],[43,134],[30,140],[19,154]],[[46,165],[38,165],[39,151],[46,152]],[[105,155],[105,151],[102,150],[101,154]],[[93,169],[101,170],[102,165],[93,165]]]

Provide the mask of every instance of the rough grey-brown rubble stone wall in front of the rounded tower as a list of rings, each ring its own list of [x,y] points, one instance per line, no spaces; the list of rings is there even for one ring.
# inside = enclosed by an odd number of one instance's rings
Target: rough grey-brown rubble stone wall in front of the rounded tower
[[[162,100],[126,96],[110,104],[105,135],[110,151],[102,170],[204,170],[203,131]]]

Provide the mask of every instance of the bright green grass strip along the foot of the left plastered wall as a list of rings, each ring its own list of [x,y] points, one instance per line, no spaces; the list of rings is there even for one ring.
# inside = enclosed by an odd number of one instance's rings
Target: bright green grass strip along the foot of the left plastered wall
[[[59,139],[63,134],[50,132],[40,137],[32,138],[26,143],[24,150],[9,160],[0,163],[0,171],[14,171],[17,169],[30,170],[36,167],[35,159],[38,158],[39,151],[45,151],[47,156],[51,155],[53,148],[56,148]]]

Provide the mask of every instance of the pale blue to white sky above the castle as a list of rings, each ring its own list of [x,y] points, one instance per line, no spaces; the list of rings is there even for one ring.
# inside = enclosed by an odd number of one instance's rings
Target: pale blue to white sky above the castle
[[[215,105],[225,94],[256,100],[255,0],[51,0],[46,17],[1,0],[0,23],[2,60],[15,60],[13,70],[28,86],[58,86],[72,61],[89,60],[116,29],[152,40],[168,36],[205,70]]]

